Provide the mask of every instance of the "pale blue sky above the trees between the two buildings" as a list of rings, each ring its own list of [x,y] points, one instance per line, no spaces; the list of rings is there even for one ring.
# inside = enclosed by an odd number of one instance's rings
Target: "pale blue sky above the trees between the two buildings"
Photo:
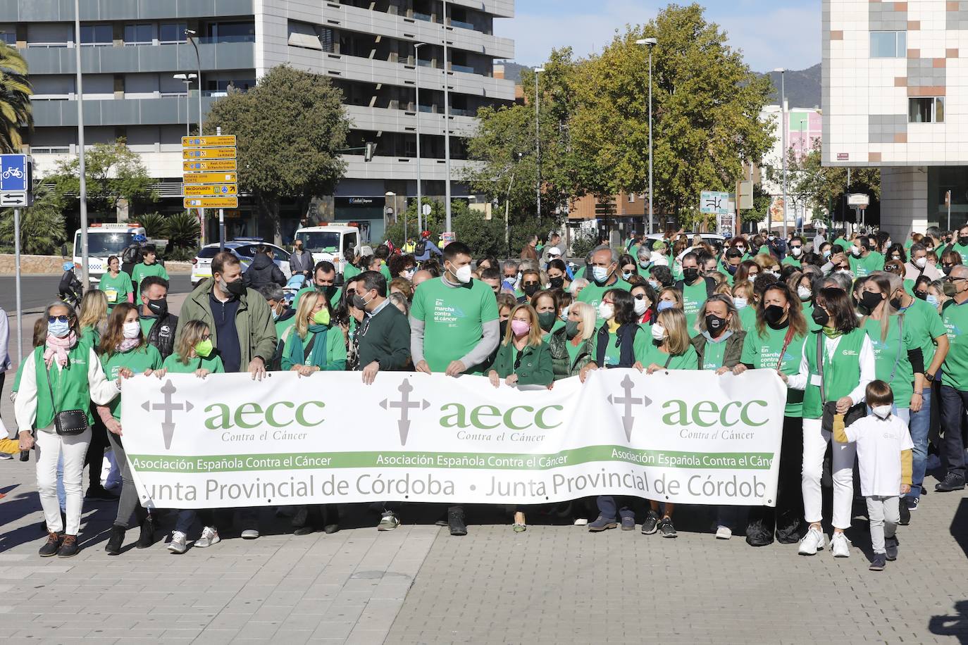
[[[677,4],[686,5],[689,0]],[[702,0],[706,18],[725,29],[754,72],[803,70],[820,62],[820,1]],[[617,28],[642,24],[668,2],[516,0],[515,17],[495,18],[495,35],[515,41],[516,63],[537,65],[554,47],[578,56],[600,51]]]

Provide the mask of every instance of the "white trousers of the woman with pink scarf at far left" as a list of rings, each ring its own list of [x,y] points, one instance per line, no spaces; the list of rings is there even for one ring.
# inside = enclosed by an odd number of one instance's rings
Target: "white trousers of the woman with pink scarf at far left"
[[[84,455],[91,443],[91,428],[74,436],[61,436],[53,426],[37,431],[37,490],[47,522],[47,531],[76,536],[80,529],[80,510],[84,503],[81,478]],[[57,460],[64,459],[64,496],[67,526],[61,523],[60,503],[57,501]]]

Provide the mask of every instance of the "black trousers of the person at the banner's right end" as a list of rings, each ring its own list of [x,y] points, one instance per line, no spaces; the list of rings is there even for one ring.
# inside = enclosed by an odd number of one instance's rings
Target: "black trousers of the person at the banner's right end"
[[[783,417],[780,466],[776,483],[776,508],[756,506],[749,510],[746,542],[766,546],[776,540],[783,544],[798,542],[803,521],[803,420]]]

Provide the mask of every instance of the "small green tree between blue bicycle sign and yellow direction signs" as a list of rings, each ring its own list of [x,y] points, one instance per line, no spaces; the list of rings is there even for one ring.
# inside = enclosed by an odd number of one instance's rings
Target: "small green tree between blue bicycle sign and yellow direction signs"
[[[84,155],[84,175],[87,178],[87,208],[92,214],[112,217],[122,199],[130,206],[158,200],[158,193],[152,189],[155,180],[148,174],[140,156],[128,148],[124,138],[91,146]],[[67,206],[76,207],[80,193],[79,158],[58,161],[54,172],[45,181],[53,183],[54,191]]]

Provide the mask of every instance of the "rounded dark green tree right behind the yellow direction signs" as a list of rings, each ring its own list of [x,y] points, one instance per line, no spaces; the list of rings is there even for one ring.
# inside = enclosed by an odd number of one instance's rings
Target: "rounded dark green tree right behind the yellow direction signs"
[[[273,239],[282,244],[279,210],[283,197],[305,213],[313,197],[332,194],[346,172],[340,150],[350,122],[342,93],[329,78],[273,68],[246,93],[214,103],[205,132],[238,137],[240,188],[252,191]]]

